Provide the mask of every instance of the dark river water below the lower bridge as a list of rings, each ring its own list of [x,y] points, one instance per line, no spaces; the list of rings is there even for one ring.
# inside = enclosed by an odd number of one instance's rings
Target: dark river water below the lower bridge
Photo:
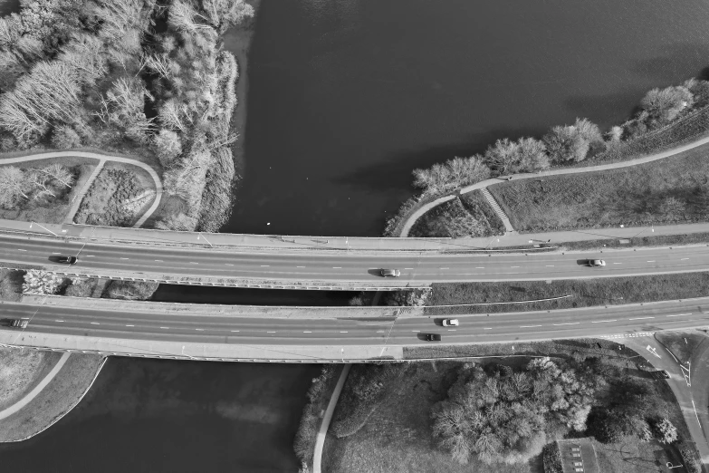
[[[289,472],[317,365],[111,358],[81,404],[0,444],[14,473]]]

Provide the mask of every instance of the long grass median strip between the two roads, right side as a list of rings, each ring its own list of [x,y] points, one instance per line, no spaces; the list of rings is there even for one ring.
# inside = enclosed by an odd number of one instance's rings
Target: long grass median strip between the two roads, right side
[[[599,277],[560,281],[517,281],[512,283],[446,283],[433,285],[428,305],[479,304],[571,297],[541,303],[426,307],[426,314],[490,314],[593,305],[632,304],[709,296],[709,273]]]

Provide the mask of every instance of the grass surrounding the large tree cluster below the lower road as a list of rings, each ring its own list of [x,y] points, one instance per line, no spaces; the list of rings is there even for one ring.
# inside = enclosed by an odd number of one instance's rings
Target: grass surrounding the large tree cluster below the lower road
[[[598,348],[596,343],[602,343]],[[513,352],[511,344],[471,345],[472,352],[478,354],[508,354]],[[556,356],[582,359],[599,356],[605,363],[619,369],[618,376],[647,378],[638,371],[633,362],[636,352],[618,351],[618,343],[605,340],[557,341],[544,343],[521,343],[515,348],[531,354],[552,353]],[[519,350],[522,349],[522,350]],[[427,349],[429,351],[435,349]],[[618,354],[618,353],[622,354]],[[431,354],[431,353],[428,353]],[[450,356],[450,354],[446,354]],[[529,357],[496,359],[487,362],[503,362],[523,365]],[[485,361],[476,361],[485,362]],[[462,362],[417,362],[407,368],[407,373],[393,389],[388,390],[387,399],[369,416],[369,420],[355,434],[344,439],[329,435],[323,455],[323,471],[333,473],[375,473],[375,472],[431,472],[446,471],[463,473],[471,471],[495,473],[543,473],[541,460],[534,458],[519,465],[485,465],[473,459],[468,465],[460,465],[439,449],[431,435],[431,407],[446,398],[446,392],[455,381],[455,372]],[[656,395],[671,402],[670,420],[686,435],[686,426],[674,395],[666,382],[656,382]],[[603,399],[600,396],[599,399]],[[643,444],[635,438],[627,438],[618,444],[603,445],[595,442],[599,467],[604,473],[641,473],[658,471],[647,469],[655,466],[658,458],[674,458],[672,449],[654,443]]]

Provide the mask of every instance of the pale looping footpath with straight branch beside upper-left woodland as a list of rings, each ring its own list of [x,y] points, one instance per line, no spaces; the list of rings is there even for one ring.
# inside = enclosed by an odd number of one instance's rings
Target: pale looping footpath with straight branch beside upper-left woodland
[[[122,162],[124,164],[130,164],[133,166],[138,166],[140,169],[145,170],[148,172],[150,175],[150,178],[153,179],[153,183],[155,184],[155,200],[153,201],[152,205],[146,210],[142,217],[139,218],[139,220],[133,225],[134,228],[138,228],[142,226],[146,220],[150,216],[153,215],[155,210],[159,207],[160,205],[160,200],[162,198],[162,182],[160,181],[160,177],[158,176],[158,173],[155,171],[155,169],[152,169],[148,164],[141,162],[137,159],[132,159],[132,158],[123,158],[122,156],[112,156],[108,154],[101,154],[101,153],[95,153],[91,151],[47,151],[47,152],[41,152],[41,153],[36,153],[36,154],[31,154],[29,156],[20,156],[17,158],[0,158],[0,164],[15,164],[18,162],[28,162],[28,161],[34,161],[38,159],[52,159],[52,158],[91,158],[91,159],[98,159],[99,160],[99,166],[94,170],[94,173],[92,174],[91,178],[86,182],[84,185],[84,188],[81,190],[81,194],[77,196],[77,198],[74,201],[74,204],[72,205],[72,208],[70,211],[70,215],[73,218],[73,213],[76,213],[76,210],[78,210],[79,205],[81,204],[81,198],[83,198],[83,195],[86,193],[88,188],[91,187],[91,183],[93,182],[94,179],[98,176],[97,170],[101,170],[103,167],[103,164],[106,161],[113,161],[113,162]]]

